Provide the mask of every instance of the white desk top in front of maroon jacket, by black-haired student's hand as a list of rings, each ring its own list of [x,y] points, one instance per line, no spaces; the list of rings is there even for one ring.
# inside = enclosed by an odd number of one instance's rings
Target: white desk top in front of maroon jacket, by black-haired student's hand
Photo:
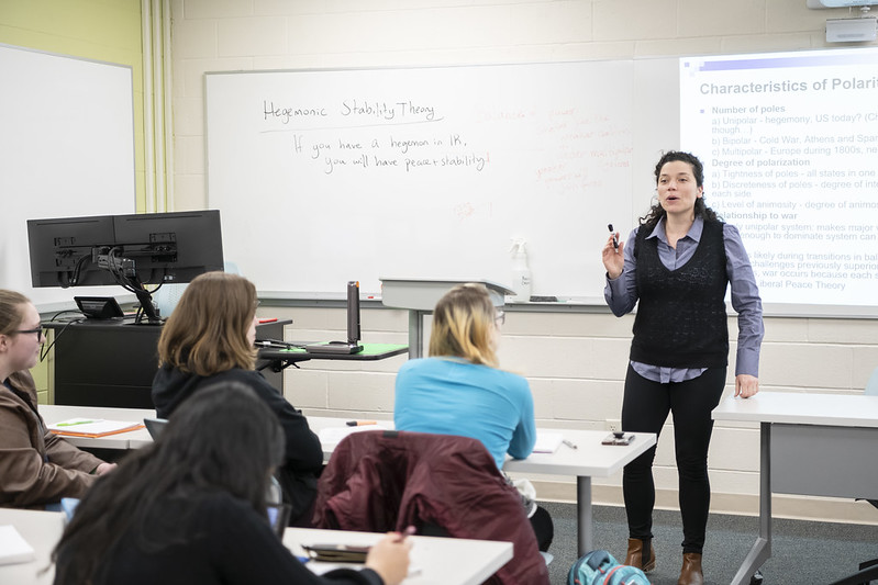
[[[298,556],[305,556],[300,544],[371,544],[384,535],[343,530],[288,528],[284,544]],[[459,538],[410,537],[412,539],[410,576],[404,585],[478,585],[512,559],[512,543]],[[310,561],[311,570],[325,566]],[[354,565],[356,566],[356,565]]]

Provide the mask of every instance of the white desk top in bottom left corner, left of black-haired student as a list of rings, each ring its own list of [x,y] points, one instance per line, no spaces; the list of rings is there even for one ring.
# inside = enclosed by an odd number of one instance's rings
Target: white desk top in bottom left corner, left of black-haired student
[[[36,551],[36,560],[27,563],[0,565],[0,583],[3,585],[51,584],[55,578],[55,566],[49,566],[49,555],[64,531],[64,513],[20,510],[0,508],[0,526],[12,525]]]

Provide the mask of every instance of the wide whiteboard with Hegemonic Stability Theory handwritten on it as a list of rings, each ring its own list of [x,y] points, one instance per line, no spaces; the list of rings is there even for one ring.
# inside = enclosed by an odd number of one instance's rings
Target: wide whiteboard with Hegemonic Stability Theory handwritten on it
[[[207,74],[209,206],[260,291],[510,284],[524,238],[533,294],[597,301],[608,223],[635,225],[679,143],[677,80],[676,59]]]

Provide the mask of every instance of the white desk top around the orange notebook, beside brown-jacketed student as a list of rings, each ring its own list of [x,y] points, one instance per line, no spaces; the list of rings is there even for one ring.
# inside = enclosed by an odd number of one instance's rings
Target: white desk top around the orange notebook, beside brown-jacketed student
[[[155,418],[155,410],[147,408],[114,408],[107,406],[68,406],[64,404],[41,404],[40,414],[47,425],[60,423],[68,418],[105,418],[108,420],[130,420],[143,423],[144,418]],[[149,431],[145,428],[119,432],[108,437],[64,437],[67,442],[76,447],[101,449],[136,449],[153,442]]]

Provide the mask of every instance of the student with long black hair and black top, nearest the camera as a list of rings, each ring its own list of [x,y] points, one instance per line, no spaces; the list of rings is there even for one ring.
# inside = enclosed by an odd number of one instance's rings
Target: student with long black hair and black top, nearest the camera
[[[284,547],[265,498],[286,442],[265,401],[246,385],[202,387],[155,443],[86,494],[53,552],[55,583],[400,583],[411,542],[397,532],[373,547],[363,571],[322,577]]]

